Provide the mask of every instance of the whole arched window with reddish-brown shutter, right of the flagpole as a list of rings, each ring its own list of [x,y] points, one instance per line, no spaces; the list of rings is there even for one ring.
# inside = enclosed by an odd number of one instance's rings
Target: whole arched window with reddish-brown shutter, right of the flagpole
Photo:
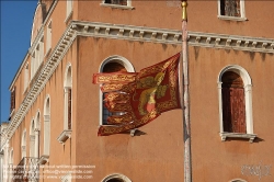
[[[246,69],[232,65],[224,68],[218,77],[220,136],[222,140],[249,138],[252,143],[252,84]]]

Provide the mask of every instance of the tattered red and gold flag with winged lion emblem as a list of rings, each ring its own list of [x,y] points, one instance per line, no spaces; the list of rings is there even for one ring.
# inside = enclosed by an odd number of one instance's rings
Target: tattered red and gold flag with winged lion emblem
[[[179,95],[180,53],[139,72],[94,73],[93,83],[101,83],[104,105],[117,113],[99,128],[105,136],[138,128],[161,113],[181,109]]]

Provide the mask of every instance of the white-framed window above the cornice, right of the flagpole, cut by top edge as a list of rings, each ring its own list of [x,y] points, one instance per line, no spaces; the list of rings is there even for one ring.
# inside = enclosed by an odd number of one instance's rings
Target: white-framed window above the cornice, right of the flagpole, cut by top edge
[[[218,18],[221,20],[246,21],[244,0],[218,0]]]

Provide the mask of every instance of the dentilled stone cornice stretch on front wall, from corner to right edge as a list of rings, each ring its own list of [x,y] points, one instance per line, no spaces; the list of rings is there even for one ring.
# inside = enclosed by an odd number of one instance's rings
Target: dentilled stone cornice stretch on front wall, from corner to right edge
[[[116,25],[109,23],[78,22],[77,34],[115,39],[153,42],[181,45],[182,33],[175,30],[152,29],[145,26]],[[189,45],[212,48],[237,49],[246,52],[274,53],[274,39],[237,36],[226,34],[189,32]]]

